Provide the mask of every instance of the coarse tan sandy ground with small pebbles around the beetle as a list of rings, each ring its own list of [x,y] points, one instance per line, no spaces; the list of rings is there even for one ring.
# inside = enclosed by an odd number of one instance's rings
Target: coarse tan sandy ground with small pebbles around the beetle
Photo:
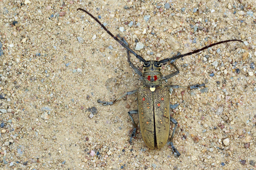
[[[136,95],[112,106],[97,103],[142,84],[125,49],[79,7],[124,36],[131,49],[141,42],[144,48],[135,52],[146,60],[226,39],[246,41],[177,60],[180,74],[163,83],[207,81],[201,91],[171,94],[179,158],[168,144],[147,148],[139,130],[128,142],[133,128],[127,112],[137,108]],[[0,0],[0,9],[1,170],[256,169],[253,0]],[[132,62],[142,69],[133,55]],[[163,66],[164,75],[173,70]]]

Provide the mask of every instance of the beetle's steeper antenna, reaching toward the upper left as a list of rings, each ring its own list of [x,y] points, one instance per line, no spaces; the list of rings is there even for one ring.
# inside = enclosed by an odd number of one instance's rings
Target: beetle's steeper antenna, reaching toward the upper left
[[[136,58],[138,58],[140,61],[142,61],[143,63],[146,63],[147,61],[142,58],[140,55],[136,54],[133,50],[131,50],[129,47],[127,47],[123,42],[121,42],[116,36],[114,36],[97,18],[95,18],[93,15],[90,14],[90,12],[86,11],[85,9],[82,8],[78,8],[77,10],[81,10],[85,13],[87,13],[88,15],[90,15],[90,17],[92,17],[94,20],[97,21],[97,23],[99,23],[99,25],[105,30],[107,31],[107,33],[112,36],[113,39],[115,39],[119,44],[121,44],[121,46],[123,46],[124,48],[126,48],[127,50],[129,50],[129,52],[131,52],[133,55],[135,55]]]

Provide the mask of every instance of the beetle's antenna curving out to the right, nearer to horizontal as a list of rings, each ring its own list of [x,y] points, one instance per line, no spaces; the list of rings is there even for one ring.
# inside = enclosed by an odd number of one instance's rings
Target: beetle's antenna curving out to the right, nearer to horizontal
[[[202,51],[202,50],[205,50],[205,49],[207,49],[207,48],[210,48],[210,47],[212,47],[212,46],[214,46],[214,45],[222,44],[222,43],[225,43],[225,42],[231,42],[231,41],[243,42],[243,41],[241,41],[241,40],[239,40],[239,39],[229,39],[229,40],[225,40],[225,41],[220,41],[220,42],[216,42],[216,43],[211,44],[211,45],[207,45],[207,46],[205,46],[205,47],[203,47],[203,48],[200,48],[200,49],[198,49],[198,50],[192,51],[192,52],[190,52],[190,53],[177,55],[177,56],[174,56],[174,57],[171,57],[171,58],[165,58],[165,59],[163,59],[163,60],[158,61],[158,63],[166,63],[166,62],[169,62],[169,61],[178,59],[178,58],[185,57],[185,56],[187,56],[187,55],[192,55],[192,54],[198,53],[198,52],[200,52],[200,51]]]

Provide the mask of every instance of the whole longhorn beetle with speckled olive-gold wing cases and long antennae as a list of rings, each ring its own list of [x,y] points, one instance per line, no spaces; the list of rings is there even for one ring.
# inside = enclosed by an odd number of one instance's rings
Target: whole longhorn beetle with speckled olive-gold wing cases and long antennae
[[[94,20],[97,21],[97,23],[100,24],[100,26],[105,31],[107,31],[107,33],[110,36],[113,37],[113,39],[115,39],[120,45],[126,48],[129,65],[132,67],[135,73],[137,73],[141,77],[140,79],[142,79],[143,81],[142,87],[139,87],[138,89],[133,91],[126,92],[123,96],[115,99],[114,101],[98,100],[98,103],[102,103],[104,106],[112,105],[116,101],[123,98],[124,96],[137,93],[138,109],[128,112],[128,115],[131,118],[132,124],[134,126],[129,142],[132,142],[132,137],[135,136],[135,133],[137,130],[137,124],[133,120],[132,114],[135,114],[135,113],[139,114],[139,125],[141,129],[141,135],[142,135],[143,141],[145,142],[147,147],[149,147],[150,149],[162,148],[166,144],[169,137],[170,121],[171,121],[172,123],[175,124],[175,126],[171,134],[170,145],[174,152],[174,155],[178,157],[180,153],[174,147],[174,144],[172,142],[178,123],[170,115],[169,90],[170,88],[180,88],[180,86],[179,85],[167,85],[167,86],[162,85],[162,82],[164,80],[167,80],[179,74],[178,67],[173,63],[174,60],[185,57],[187,55],[198,53],[214,45],[222,44],[225,42],[231,42],[231,41],[239,41],[239,42],[243,42],[243,41],[238,39],[230,39],[230,40],[221,41],[221,42],[217,42],[217,43],[205,46],[201,49],[195,50],[190,53],[176,55],[171,58],[165,58],[160,61],[154,61],[154,60],[146,61],[144,58],[142,58],[140,55],[136,54],[133,50],[129,48],[129,44],[124,38],[120,37],[119,35],[114,36],[97,18],[91,15],[88,11],[81,8],[78,8],[77,10],[81,10],[87,13],[88,15],[90,15]],[[130,61],[129,53],[132,53],[133,55],[135,55],[136,58],[138,58],[141,62],[143,62],[143,69],[144,69],[143,73]],[[163,63],[167,63],[167,62],[170,62],[171,65],[174,66],[176,71],[166,76],[163,76],[161,73],[161,67]],[[197,85],[190,86],[190,88],[191,89],[199,88],[204,85],[205,84],[201,84],[201,85],[197,84]]]

